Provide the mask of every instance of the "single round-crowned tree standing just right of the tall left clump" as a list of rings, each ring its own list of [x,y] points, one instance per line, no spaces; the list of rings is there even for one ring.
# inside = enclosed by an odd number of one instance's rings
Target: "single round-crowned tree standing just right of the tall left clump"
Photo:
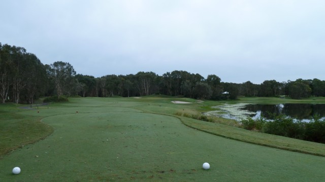
[[[67,62],[57,61],[47,68],[49,77],[54,80],[58,100],[63,94],[70,94],[70,85],[73,84],[76,75],[73,66]]]

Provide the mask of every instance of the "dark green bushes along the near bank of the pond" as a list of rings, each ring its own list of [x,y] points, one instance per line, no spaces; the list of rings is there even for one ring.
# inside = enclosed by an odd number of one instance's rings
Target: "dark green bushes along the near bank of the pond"
[[[310,122],[304,122],[273,114],[272,120],[263,117],[255,120],[248,118],[242,120],[241,124],[242,128],[248,130],[325,144],[325,119],[320,119],[317,115]]]

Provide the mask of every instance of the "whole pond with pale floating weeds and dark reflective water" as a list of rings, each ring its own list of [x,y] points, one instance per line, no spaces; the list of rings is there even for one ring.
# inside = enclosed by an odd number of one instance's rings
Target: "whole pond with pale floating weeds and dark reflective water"
[[[284,114],[296,120],[310,121],[315,114],[322,119],[325,118],[325,104],[224,104],[213,107],[216,111],[207,112],[207,115],[214,115],[223,118],[241,120],[247,117],[253,119],[263,116],[270,119],[269,113]]]

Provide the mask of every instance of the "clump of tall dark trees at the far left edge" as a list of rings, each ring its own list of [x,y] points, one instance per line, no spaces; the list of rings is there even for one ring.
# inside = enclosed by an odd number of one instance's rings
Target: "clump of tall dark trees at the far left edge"
[[[21,47],[0,43],[0,96],[2,103],[11,101],[33,103],[44,95],[47,85],[44,65]]]

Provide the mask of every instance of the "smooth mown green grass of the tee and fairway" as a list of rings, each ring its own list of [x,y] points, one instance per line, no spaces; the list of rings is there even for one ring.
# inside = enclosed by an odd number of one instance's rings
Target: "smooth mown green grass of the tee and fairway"
[[[203,121],[173,114],[194,112],[205,104],[191,99],[176,99],[191,104],[171,103],[174,100],[75,98],[40,112],[12,111],[26,118],[43,118],[54,131],[44,140],[3,155],[0,181],[325,179],[325,157],[244,143],[188,127],[183,123],[200,127]],[[209,170],[202,168],[204,162],[210,164]],[[21,173],[15,175],[16,166]]]

